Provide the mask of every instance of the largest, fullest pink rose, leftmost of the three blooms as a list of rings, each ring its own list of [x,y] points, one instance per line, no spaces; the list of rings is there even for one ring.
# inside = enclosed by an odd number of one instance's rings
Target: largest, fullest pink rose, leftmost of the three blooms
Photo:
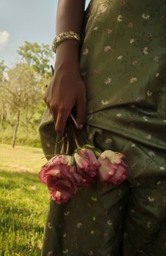
[[[47,185],[51,199],[57,198],[58,203],[69,200],[77,193],[77,183],[80,183],[81,179],[76,172],[74,158],[69,155],[59,154],[51,158],[39,172],[39,180]],[[60,194],[56,193],[57,191]]]

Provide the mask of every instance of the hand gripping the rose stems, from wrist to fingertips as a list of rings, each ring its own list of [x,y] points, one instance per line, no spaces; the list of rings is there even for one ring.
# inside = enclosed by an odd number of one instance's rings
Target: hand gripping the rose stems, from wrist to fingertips
[[[63,136],[65,124],[73,106],[76,107],[76,122],[82,126],[86,114],[86,87],[73,66],[56,68],[51,83],[44,94],[44,101],[53,116],[56,133]]]

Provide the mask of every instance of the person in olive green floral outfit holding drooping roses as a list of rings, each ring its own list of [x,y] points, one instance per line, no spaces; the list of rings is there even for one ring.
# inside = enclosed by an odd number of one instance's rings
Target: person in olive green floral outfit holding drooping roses
[[[60,0],[55,72],[39,133],[55,154],[73,107],[101,150],[125,154],[129,178],[51,200],[43,256],[165,255],[165,1]],[[86,124],[86,125],[85,125]],[[49,157],[47,157],[49,159]]]

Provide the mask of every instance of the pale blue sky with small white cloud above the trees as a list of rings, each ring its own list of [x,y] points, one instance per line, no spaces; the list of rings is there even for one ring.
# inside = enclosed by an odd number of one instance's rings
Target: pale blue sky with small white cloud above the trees
[[[12,67],[19,61],[16,50],[25,41],[51,47],[57,5],[58,0],[0,0],[0,61]]]

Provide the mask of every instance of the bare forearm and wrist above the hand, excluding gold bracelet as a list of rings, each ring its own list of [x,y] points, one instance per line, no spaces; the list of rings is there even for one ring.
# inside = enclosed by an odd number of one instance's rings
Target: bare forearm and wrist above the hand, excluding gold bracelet
[[[75,31],[80,34],[82,28],[82,20],[84,15],[85,0],[60,0],[58,1],[58,9],[56,16],[56,35],[62,31]],[[60,44],[56,51],[56,63],[61,61],[70,62],[77,66],[79,44],[75,40],[67,40]]]

